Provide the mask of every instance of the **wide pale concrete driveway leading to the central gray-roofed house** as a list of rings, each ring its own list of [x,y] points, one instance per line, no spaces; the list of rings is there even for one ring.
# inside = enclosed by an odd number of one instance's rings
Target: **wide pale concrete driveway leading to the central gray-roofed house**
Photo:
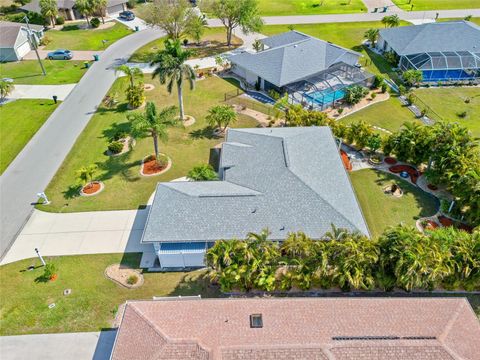
[[[37,256],[152,252],[140,244],[148,207],[142,210],[47,213],[34,210],[0,265]]]

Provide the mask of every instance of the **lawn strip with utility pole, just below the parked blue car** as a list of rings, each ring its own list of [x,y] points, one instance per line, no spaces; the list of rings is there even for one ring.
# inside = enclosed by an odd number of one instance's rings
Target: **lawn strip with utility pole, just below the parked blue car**
[[[43,76],[36,60],[3,63],[0,64],[0,77],[12,78],[15,84],[74,84],[80,81],[87,70],[83,61],[43,60],[43,65],[46,76]]]

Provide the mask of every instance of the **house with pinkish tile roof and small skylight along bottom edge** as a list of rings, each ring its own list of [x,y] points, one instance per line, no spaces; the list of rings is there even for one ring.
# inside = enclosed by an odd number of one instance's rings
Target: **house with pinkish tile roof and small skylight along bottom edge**
[[[111,360],[478,360],[464,298],[128,301]]]

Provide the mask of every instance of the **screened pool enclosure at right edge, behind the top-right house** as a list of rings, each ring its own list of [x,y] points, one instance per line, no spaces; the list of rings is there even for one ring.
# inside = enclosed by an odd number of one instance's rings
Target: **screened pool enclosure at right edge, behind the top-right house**
[[[480,78],[480,53],[470,51],[426,52],[402,56],[399,67],[420,70],[424,82],[472,81]]]

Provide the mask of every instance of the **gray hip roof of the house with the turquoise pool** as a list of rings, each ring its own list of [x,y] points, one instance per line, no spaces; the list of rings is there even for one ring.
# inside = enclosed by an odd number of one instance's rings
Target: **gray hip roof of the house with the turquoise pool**
[[[342,61],[355,64],[361,56],[355,51],[296,31],[262,42],[275,47],[255,54],[243,52],[229,60],[279,87],[315,75]]]

